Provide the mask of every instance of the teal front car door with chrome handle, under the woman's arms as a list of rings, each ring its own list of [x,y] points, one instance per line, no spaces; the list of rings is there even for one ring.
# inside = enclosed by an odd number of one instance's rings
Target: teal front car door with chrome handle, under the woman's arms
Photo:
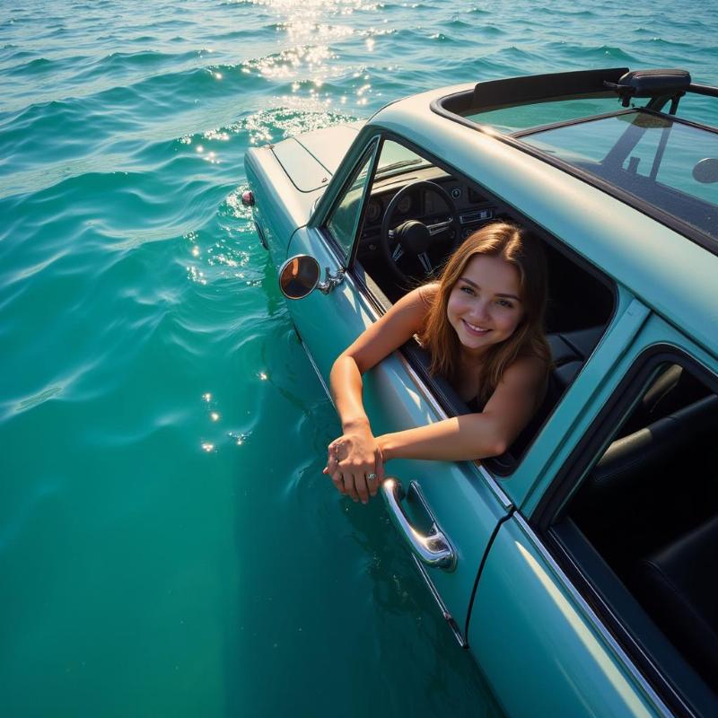
[[[371,128],[366,129],[347,155],[348,166],[340,168],[332,180],[338,185],[334,200],[325,200],[326,211],[294,232],[288,253],[311,255],[331,275],[345,270],[341,283],[329,293],[315,291],[289,302],[302,343],[325,388],[337,355],[379,316],[351,263],[381,149],[381,136],[372,136]],[[400,352],[367,373],[363,400],[377,434],[445,418]],[[478,567],[497,526],[511,510],[510,502],[494,479],[472,462],[392,460],[387,473],[397,479],[396,484],[387,484],[393,490],[385,492],[398,526],[397,540],[407,542],[443,616],[460,644],[465,644]]]

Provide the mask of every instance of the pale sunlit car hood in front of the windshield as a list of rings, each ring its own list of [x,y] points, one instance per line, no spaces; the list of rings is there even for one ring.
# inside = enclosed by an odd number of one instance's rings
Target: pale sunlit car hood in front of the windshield
[[[327,186],[363,124],[359,121],[306,132],[275,144],[272,152],[294,187],[313,192]]]

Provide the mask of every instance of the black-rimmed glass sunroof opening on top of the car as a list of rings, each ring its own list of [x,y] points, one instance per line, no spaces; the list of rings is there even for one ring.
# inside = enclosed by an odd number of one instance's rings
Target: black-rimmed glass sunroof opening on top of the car
[[[715,99],[718,88],[693,83],[686,70],[615,67],[489,80],[432,109],[480,131],[499,129],[507,144],[718,254],[718,196],[708,186],[718,175]]]

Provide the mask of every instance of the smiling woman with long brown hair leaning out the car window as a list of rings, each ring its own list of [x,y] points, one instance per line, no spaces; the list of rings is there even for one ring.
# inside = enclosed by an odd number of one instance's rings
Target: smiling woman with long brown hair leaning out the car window
[[[337,358],[331,392],[341,436],[328,446],[337,490],[367,503],[390,459],[477,460],[502,454],[543,398],[546,263],[538,240],[488,224],[452,255],[439,282],[407,293]],[[362,403],[362,374],[413,335],[475,413],[381,436]]]

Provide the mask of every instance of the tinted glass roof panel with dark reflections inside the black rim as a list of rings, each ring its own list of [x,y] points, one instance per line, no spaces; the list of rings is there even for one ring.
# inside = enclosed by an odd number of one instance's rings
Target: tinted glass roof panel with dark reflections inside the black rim
[[[522,136],[718,239],[718,134],[641,111]]]

